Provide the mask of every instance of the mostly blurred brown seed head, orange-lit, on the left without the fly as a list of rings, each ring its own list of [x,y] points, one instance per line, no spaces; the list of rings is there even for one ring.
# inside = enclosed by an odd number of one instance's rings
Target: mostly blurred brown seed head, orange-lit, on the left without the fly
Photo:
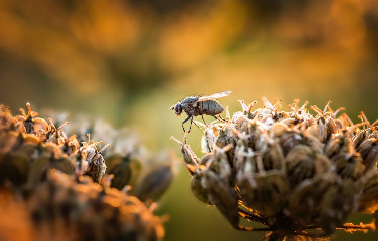
[[[57,117],[56,128],[27,107],[27,114],[12,116],[0,106],[0,189],[24,203],[38,230],[49,230],[48,239],[57,229],[72,231],[75,240],[162,239],[152,202],[173,178],[167,153],[151,155],[133,135],[101,121],[70,124],[77,134],[68,137],[62,131],[68,122]],[[102,129],[113,146],[99,150],[103,142],[85,133],[100,138]]]

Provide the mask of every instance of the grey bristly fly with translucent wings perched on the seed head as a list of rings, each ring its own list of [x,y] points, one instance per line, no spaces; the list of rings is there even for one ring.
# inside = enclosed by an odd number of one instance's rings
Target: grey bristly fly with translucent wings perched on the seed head
[[[202,121],[204,123],[204,114],[211,115],[214,118],[218,119],[218,121],[223,121],[222,119],[219,119],[216,116],[217,114],[222,113],[222,111],[224,110],[223,106],[216,99],[225,97],[229,95],[231,92],[232,91],[224,91],[201,97],[189,96],[184,98],[181,102],[177,102],[174,106],[172,106],[171,110],[174,109],[174,112],[175,114],[177,114],[177,116],[180,116],[182,111],[185,111],[185,113],[187,114],[187,118],[182,122],[182,129],[185,132],[184,123],[191,119],[191,125],[188,131],[190,132],[193,123],[193,116],[201,115]]]

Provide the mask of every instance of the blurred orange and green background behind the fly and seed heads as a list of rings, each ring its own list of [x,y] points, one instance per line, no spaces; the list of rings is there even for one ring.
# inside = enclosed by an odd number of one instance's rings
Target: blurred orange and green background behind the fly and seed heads
[[[189,94],[232,90],[231,114],[261,97],[378,118],[378,2],[374,0],[0,0],[0,103],[29,101],[136,129],[152,150],[174,149],[177,177],[160,203],[166,240],[254,240],[192,195],[170,108]],[[302,103],[301,102],[301,103]],[[205,118],[212,121],[211,118]],[[188,144],[200,152],[194,127]],[[349,221],[370,221],[368,217]],[[331,240],[376,240],[338,231]]]

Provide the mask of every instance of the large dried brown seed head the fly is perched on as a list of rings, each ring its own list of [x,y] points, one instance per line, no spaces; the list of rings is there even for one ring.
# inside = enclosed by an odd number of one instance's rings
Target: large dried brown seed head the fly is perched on
[[[239,101],[242,111],[232,118],[227,113],[228,123],[196,122],[204,128],[201,159],[172,137],[181,145],[195,196],[215,205],[233,227],[269,231],[271,240],[375,229],[373,223],[342,223],[351,213],[378,209],[377,122],[361,112],[361,123],[353,124],[330,102],[324,110],[311,106],[313,116],[308,102],[280,111],[280,99],[263,101],[256,110],[256,101]],[[240,217],[267,227],[242,227]]]

